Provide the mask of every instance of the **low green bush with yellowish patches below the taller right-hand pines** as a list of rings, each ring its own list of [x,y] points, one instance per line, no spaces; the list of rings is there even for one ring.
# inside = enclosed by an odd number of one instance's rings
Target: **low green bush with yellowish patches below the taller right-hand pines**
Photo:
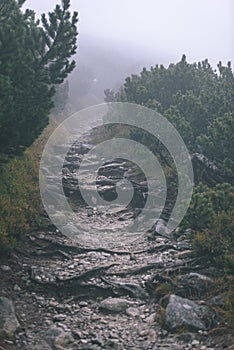
[[[222,266],[232,267],[234,253],[234,189],[228,183],[215,188],[199,184],[183,225],[193,232],[193,247]],[[229,262],[229,263],[228,263]]]

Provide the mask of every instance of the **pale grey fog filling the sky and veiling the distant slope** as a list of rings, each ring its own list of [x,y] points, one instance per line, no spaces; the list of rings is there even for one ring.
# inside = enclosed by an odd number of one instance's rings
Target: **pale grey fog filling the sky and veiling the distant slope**
[[[28,0],[39,16],[59,0]],[[233,0],[73,0],[79,13],[77,73],[89,82],[85,91],[102,98],[144,66],[208,58],[215,67],[233,62]],[[76,89],[77,90],[77,89]],[[87,91],[86,91],[87,92]]]

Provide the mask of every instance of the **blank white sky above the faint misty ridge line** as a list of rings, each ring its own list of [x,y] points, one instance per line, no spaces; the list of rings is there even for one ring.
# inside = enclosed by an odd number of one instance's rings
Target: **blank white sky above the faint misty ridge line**
[[[38,14],[59,0],[28,0]],[[183,53],[189,62],[208,58],[216,65],[234,58],[233,0],[72,0],[79,12],[79,37],[141,54],[160,52],[173,62]],[[155,62],[161,63],[161,62]],[[163,62],[162,62],[163,63]]]

